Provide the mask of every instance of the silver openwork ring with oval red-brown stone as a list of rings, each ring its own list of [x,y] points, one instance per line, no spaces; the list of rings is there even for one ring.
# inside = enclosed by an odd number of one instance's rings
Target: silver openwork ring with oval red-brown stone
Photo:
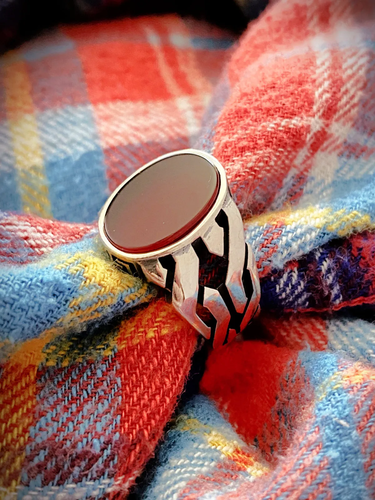
[[[184,217],[190,219],[183,225]],[[112,192],[98,225],[111,259],[164,288],[213,347],[231,340],[257,312],[254,255],[225,170],[212,155],[182,149],[145,164]]]

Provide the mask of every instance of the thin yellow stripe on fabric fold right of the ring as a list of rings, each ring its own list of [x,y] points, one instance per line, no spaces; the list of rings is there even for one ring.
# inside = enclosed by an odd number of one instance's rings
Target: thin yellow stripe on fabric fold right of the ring
[[[347,212],[344,208],[332,211],[331,208],[318,208],[308,206],[299,210],[282,210],[279,212],[265,213],[258,217],[245,220],[249,226],[262,226],[265,224],[273,225],[281,223],[283,225],[310,226],[326,229],[331,232],[337,232],[341,237],[348,236],[352,232],[363,231],[375,228],[375,222],[366,213],[360,213],[357,210]]]

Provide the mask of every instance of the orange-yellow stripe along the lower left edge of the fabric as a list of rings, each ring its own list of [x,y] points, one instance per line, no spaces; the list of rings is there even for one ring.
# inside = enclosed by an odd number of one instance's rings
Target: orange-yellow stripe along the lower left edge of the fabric
[[[52,331],[26,340],[11,354],[0,380],[0,500],[16,491],[25,457],[28,429],[36,406],[36,370]]]

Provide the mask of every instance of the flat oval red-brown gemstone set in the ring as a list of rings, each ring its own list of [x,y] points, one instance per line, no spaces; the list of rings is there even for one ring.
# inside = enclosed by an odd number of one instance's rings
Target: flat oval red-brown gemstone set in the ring
[[[164,248],[199,224],[218,190],[217,170],[201,156],[161,159],[118,191],[105,214],[105,233],[113,246],[128,253]]]

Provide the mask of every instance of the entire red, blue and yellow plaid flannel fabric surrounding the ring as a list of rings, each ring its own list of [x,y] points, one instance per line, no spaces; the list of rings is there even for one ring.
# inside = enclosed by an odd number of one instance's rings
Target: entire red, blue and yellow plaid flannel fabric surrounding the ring
[[[161,16],[5,54],[1,499],[125,498],[160,439],[139,497],[375,495],[374,20],[371,1],[281,0],[234,47]],[[197,337],[113,267],[94,220],[189,145],[243,215],[262,294],[244,338],[261,340],[209,352],[176,409]]]

